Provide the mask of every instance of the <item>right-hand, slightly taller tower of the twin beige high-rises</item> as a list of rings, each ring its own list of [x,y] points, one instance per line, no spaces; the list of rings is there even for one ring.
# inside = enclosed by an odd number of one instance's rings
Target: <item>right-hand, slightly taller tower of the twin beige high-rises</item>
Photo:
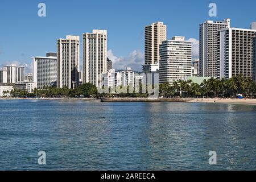
[[[93,30],[83,34],[83,82],[101,86],[102,73],[107,72],[107,31]]]

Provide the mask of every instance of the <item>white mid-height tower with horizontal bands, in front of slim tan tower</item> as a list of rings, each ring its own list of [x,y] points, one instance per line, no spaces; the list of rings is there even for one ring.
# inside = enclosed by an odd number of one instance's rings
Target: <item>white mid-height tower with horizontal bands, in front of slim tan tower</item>
[[[176,36],[160,45],[159,83],[184,80],[191,76],[191,42]]]

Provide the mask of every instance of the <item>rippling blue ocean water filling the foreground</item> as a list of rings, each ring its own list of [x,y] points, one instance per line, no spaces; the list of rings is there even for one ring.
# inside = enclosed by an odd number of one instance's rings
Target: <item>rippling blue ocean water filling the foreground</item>
[[[255,118],[250,105],[1,100],[0,170],[255,170]]]

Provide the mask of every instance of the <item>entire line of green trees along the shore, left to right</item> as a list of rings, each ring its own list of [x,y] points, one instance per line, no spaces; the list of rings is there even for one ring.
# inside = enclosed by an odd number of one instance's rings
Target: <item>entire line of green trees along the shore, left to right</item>
[[[67,97],[148,97],[147,93],[142,93],[142,85],[139,85],[139,93],[129,93],[129,86],[124,89],[126,93],[98,93],[96,86],[90,83],[82,84],[76,89],[46,87],[42,90],[34,89],[33,93],[26,90],[12,90],[9,93],[13,97],[49,97],[49,98],[67,98]],[[121,86],[122,88],[122,86]],[[144,88],[145,89],[145,88]],[[152,86],[154,89],[154,86]],[[8,91],[7,91],[8,92]],[[204,80],[201,85],[195,82],[180,80],[170,85],[168,82],[159,85],[159,97],[236,97],[237,94],[243,94],[246,97],[253,97],[256,93],[256,84],[249,78],[242,75],[234,76],[229,80],[210,78]],[[5,94],[5,93],[4,93]]]

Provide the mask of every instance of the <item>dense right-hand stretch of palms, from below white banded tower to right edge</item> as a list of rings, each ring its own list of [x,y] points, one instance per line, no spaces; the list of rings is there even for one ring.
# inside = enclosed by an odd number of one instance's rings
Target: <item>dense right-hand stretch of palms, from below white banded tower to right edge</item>
[[[160,96],[163,97],[236,97],[242,94],[254,98],[256,84],[242,75],[234,76],[228,80],[222,78],[210,78],[204,80],[201,85],[189,81],[180,80],[171,86],[168,82],[159,85]]]

